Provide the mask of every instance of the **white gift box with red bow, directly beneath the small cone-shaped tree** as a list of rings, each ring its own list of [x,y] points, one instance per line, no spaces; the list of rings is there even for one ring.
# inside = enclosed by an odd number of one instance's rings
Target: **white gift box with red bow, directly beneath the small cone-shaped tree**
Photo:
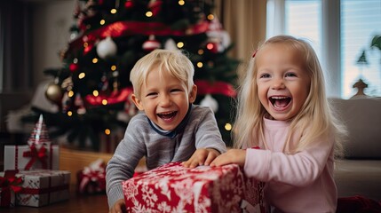
[[[4,170],[59,170],[60,148],[50,142],[4,146]]]

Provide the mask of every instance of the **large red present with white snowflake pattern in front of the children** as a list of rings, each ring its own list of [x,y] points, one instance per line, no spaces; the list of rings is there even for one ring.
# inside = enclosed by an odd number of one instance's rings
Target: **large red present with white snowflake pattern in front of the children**
[[[123,181],[127,212],[261,212],[260,183],[238,165],[171,162]],[[262,211],[263,212],[263,211]]]

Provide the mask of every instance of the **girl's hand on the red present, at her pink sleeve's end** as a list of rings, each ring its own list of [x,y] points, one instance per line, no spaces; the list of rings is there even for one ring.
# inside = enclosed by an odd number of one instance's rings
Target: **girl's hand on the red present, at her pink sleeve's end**
[[[220,154],[210,166],[222,166],[226,164],[235,163],[240,166],[245,164],[246,150],[244,149],[229,149],[225,154]]]

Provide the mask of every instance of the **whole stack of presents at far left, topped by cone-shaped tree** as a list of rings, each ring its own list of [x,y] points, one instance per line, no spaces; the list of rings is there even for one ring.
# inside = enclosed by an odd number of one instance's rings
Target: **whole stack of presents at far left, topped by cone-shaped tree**
[[[4,146],[0,207],[41,207],[67,200],[70,172],[59,170],[59,151],[47,134],[42,116],[28,145]]]

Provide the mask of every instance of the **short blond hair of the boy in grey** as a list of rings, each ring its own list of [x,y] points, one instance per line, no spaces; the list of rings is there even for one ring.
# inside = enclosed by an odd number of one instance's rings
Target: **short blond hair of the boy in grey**
[[[132,67],[130,81],[135,95],[140,98],[141,87],[147,83],[147,75],[153,69],[157,69],[160,75],[168,72],[179,81],[187,84],[187,91],[191,91],[194,85],[194,65],[187,58],[184,51],[169,51],[156,49],[151,51]],[[160,81],[160,79],[157,79]]]

